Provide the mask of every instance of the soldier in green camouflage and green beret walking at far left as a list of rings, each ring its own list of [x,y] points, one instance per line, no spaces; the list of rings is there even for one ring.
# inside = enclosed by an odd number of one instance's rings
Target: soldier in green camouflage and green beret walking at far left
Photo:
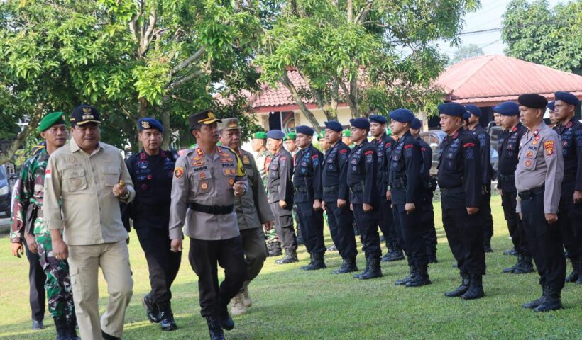
[[[45,115],[38,125],[38,131],[46,140],[46,147],[22,166],[14,200],[16,214],[13,220],[16,227],[13,227],[13,232],[21,233],[20,230],[26,225],[33,227],[32,233],[31,230],[28,232],[35,236],[40,266],[46,274],[48,310],[55,320],[57,340],[79,339],[75,330],[77,319],[72,299],[69,265],[66,260],[55,258],[50,231],[43,220],[41,210],[48,157],[67,142],[64,114],[55,112]]]

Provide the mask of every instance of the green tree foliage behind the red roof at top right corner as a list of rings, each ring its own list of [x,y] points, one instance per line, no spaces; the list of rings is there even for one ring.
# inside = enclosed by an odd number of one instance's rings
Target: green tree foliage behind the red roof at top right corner
[[[545,0],[512,0],[503,14],[505,53],[582,74],[582,1],[549,8]]]

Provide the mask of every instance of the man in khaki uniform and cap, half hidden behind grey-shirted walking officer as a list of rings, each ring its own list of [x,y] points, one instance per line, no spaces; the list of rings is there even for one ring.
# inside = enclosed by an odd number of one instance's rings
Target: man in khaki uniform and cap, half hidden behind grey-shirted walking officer
[[[248,295],[248,284],[258,276],[267,258],[265,233],[261,226],[265,225],[265,229],[268,230],[273,229],[273,213],[269,207],[257,164],[251,152],[241,149],[241,129],[238,118],[226,118],[219,124],[220,141],[222,145],[230,147],[238,154],[238,157],[241,157],[248,182],[246,195],[234,199],[234,210],[238,219],[238,229],[241,230],[248,273],[243,288],[232,301],[231,314],[233,315],[245,313],[246,308],[253,304]]]

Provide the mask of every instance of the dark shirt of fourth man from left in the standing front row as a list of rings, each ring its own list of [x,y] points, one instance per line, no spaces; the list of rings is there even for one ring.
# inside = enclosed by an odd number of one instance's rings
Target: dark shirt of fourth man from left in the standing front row
[[[348,156],[348,164],[344,167],[347,187],[342,186],[339,197],[346,197],[346,191],[349,188],[351,203],[366,203],[377,208],[377,166],[378,155],[376,154],[376,149],[368,140],[365,139],[360,145],[353,147]]]

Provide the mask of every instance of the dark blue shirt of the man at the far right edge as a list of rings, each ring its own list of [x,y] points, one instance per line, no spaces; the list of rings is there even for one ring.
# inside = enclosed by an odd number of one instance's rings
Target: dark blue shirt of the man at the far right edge
[[[572,118],[566,125],[556,125],[562,140],[562,156],[564,156],[564,180],[562,188],[582,190],[582,123]],[[575,183],[573,183],[575,182]]]

